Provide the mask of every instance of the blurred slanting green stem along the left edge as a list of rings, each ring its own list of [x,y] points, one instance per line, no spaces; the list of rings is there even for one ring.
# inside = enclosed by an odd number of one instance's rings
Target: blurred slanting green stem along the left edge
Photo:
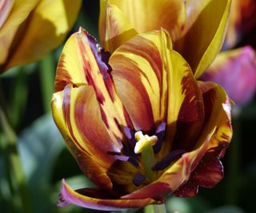
[[[10,125],[9,116],[7,116],[6,105],[2,94],[2,87],[0,82],[0,124],[2,125],[2,132],[4,134],[6,143],[2,146],[2,152],[5,152],[7,162],[10,162],[10,167],[6,171],[10,172],[9,175],[14,179],[8,178],[7,181],[10,185],[10,190],[14,190],[14,185],[17,184],[20,199],[22,201],[22,212],[30,212],[30,203],[28,199],[28,192],[26,188],[26,179],[22,170],[22,163],[18,155],[17,136]],[[7,163],[8,164],[8,163]],[[15,181],[14,183],[12,182]]]

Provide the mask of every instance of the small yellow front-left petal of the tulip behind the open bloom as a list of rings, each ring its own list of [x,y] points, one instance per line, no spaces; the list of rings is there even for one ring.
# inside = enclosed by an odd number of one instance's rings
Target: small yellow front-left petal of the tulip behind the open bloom
[[[101,4],[99,26],[101,44],[110,53],[138,34],[122,11],[110,4],[107,6]]]

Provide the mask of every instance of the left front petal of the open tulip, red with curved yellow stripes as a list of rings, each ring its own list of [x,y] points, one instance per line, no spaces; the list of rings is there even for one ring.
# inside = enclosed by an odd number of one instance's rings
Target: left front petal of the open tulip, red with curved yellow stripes
[[[52,109],[54,121],[82,171],[94,183],[110,188],[106,171],[115,158],[108,152],[120,152],[121,144],[107,132],[94,89],[67,85],[54,93]]]

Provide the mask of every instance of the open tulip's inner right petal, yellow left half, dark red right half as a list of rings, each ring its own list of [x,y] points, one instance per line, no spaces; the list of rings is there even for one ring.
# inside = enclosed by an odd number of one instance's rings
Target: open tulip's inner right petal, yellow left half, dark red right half
[[[157,156],[158,160],[167,156],[171,148],[186,151],[193,148],[201,132],[204,117],[202,94],[190,66],[175,51],[169,58],[166,57],[166,63],[170,67],[166,139]]]

